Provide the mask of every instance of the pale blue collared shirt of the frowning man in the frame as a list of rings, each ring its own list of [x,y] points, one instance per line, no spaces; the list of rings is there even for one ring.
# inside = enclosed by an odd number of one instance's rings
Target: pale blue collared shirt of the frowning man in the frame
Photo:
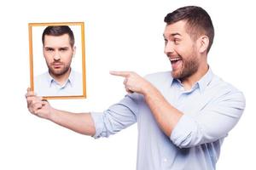
[[[45,72],[34,79],[34,91],[38,96],[83,95],[83,77],[79,72],[70,71],[67,81],[61,85]]]

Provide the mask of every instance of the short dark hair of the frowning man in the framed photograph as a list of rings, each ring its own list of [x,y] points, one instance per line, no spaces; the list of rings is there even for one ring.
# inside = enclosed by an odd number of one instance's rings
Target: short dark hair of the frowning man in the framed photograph
[[[43,35],[42,35],[42,42],[44,44],[45,35],[48,35],[48,36],[62,36],[64,34],[68,34],[69,43],[70,43],[71,47],[73,48],[74,36],[73,36],[73,31],[70,29],[69,26],[47,26],[44,29],[44,32],[43,32]]]

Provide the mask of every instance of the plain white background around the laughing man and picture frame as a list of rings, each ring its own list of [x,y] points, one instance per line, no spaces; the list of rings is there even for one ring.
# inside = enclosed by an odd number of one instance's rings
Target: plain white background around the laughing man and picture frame
[[[255,169],[255,5],[252,1],[2,1],[0,4],[0,169],[136,168],[137,126],[108,139],[92,139],[32,116],[29,86],[29,22],[84,21],[88,99],[51,100],[55,108],[103,111],[124,95],[110,70],[146,75],[170,70],[163,53],[164,17],[184,5],[200,5],[212,17],[216,37],[212,71],[244,92],[247,108],[224,141],[218,170]],[[255,106],[255,105],[254,105]]]

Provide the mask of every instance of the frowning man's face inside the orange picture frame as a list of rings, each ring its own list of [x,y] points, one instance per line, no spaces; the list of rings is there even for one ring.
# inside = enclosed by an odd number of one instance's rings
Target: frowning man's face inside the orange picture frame
[[[75,47],[72,48],[70,45],[68,34],[62,36],[45,35],[44,58],[51,75],[58,77],[67,73],[73,54],[75,54]]]

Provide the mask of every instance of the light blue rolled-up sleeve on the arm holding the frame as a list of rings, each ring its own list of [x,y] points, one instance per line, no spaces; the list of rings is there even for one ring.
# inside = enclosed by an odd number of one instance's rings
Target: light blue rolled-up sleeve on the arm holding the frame
[[[95,139],[108,137],[111,134],[118,133],[125,127],[137,122],[137,94],[127,94],[119,103],[112,105],[108,110],[99,112],[90,112],[95,123]]]

